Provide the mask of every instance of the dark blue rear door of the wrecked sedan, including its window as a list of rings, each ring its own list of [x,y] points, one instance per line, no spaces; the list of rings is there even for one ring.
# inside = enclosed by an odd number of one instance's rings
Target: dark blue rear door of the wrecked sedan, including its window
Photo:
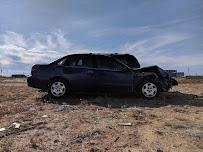
[[[67,59],[64,74],[73,92],[92,92],[97,89],[93,59],[88,55],[75,55]]]

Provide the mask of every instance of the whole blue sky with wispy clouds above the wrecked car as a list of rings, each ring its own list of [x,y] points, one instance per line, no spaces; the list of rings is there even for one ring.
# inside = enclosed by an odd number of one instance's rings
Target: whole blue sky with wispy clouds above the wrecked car
[[[80,52],[203,74],[202,0],[0,0],[0,67],[30,73]]]

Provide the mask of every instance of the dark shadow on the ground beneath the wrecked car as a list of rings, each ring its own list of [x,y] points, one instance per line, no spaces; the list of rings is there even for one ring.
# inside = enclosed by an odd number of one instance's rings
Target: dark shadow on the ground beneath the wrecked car
[[[72,95],[64,99],[51,99],[48,94],[38,98],[46,103],[68,104],[68,105],[97,105],[109,108],[127,108],[127,107],[149,107],[158,108],[167,105],[189,105],[203,107],[203,96],[194,94],[184,94],[181,92],[161,93],[154,99],[144,99],[132,95]]]

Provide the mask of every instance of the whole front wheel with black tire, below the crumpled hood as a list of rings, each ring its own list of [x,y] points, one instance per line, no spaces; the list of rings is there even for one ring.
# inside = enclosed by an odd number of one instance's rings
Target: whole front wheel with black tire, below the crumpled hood
[[[147,99],[153,99],[160,94],[159,86],[154,81],[144,81],[139,86],[139,94]]]

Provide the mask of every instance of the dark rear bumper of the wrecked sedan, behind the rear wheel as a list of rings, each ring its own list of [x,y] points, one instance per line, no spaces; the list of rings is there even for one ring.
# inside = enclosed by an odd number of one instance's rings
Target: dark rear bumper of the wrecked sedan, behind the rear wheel
[[[32,76],[27,78],[27,84],[29,87],[42,89],[42,90],[47,90],[47,86],[48,86],[47,81],[40,80],[40,79],[34,78]]]

